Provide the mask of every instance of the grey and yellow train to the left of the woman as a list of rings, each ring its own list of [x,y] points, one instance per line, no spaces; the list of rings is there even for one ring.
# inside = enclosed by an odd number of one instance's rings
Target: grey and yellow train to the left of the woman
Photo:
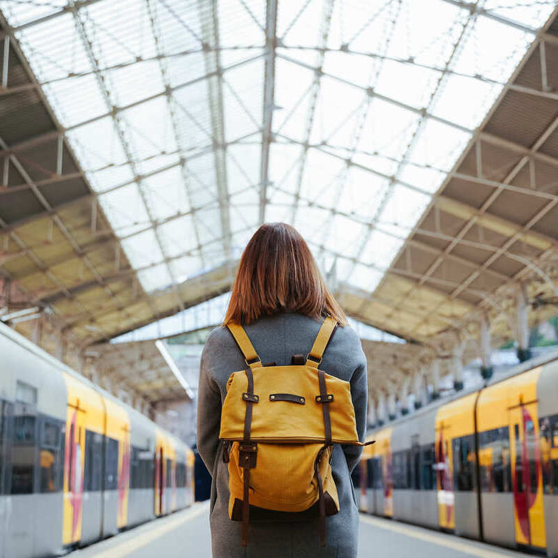
[[[0,557],[62,555],[194,501],[194,453],[0,324]]]

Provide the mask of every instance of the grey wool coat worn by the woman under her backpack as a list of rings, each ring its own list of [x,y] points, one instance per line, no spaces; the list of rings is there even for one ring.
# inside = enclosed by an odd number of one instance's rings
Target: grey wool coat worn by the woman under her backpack
[[[306,355],[321,322],[300,314],[280,312],[245,327],[263,363],[290,364],[293,354]],[[210,523],[213,558],[354,558],[357,552],[359,512],[351,473],[361,455],[359,446],[335,444],[331,467],[340,511],[326,518],[326,547],[319,544],[317,520],[300,523],[250,523],[247,548],[241,546],[241,522],[229,520],[228,470],[219,442],[221,405],[229,375],[246,363],[227,328],[209,334],[202,352],[197,404],[197,448],[212,476]],[[319,367],[350,382],[359,439],[365,437],[366,359],[359,337],[349,326],[338,327]]]

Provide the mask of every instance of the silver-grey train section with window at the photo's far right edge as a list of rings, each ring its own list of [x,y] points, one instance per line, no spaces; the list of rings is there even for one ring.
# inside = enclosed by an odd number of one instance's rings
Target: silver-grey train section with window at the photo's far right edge
[[[558,361],[543,366],[537,384],[546,548],[558,557]]]

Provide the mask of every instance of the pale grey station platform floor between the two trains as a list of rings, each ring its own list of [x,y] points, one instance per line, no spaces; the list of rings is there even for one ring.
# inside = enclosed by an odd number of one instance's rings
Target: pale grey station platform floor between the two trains
[[[140,525],[82,550],[71,558],[211,558],[209,504],[203,502],[165,518]],[[453,535],[361,514],[359,558],[527,558]],[[262,557],[264,558],[264,557]]]

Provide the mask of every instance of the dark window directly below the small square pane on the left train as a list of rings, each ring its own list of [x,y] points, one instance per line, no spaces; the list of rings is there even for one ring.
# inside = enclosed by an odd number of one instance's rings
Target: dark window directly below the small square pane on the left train
[[[13,422],[12,494],[31,494],[36,462],[36,416],[22,414]]]

